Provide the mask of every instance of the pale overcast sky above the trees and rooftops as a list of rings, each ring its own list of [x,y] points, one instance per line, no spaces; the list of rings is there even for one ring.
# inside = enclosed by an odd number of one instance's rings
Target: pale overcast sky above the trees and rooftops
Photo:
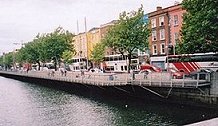
[[[123,11],[145,13],[174,5],[182,0],[0,0],[0,55],[34,39],[38,33],[50,33],[61,26],[77,34],[118,19]]]

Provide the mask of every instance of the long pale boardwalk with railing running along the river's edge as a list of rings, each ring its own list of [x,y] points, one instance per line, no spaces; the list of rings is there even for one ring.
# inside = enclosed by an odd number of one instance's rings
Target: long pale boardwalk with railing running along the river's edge
[[[135,79],[128,73],[85,72],[84,74],[81,74],[81,72],[67,72],[66,75],[62,75],[59,71],[56,71],[55,73],[51,71],[29,71],[28,73],[19,71],[0,71],[0,73],[96,86],[139,85],[149,87],[198,88],[210,85],[210,77],[207,77],[208,75],[205,80],[200,80],[199,78],[193,79],[185,77],[183,79],[172,79],[169,73],[149,73],[148,76],[136,74]]]

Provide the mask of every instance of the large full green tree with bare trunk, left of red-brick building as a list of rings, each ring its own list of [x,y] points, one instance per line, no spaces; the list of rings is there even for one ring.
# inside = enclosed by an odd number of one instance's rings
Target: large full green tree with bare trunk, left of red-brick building
[[[145,50],[148,47],[149,30],[143,21],[144,11],[142,7],[138,11],[120,14],[118,22],[109,30],[103,40],[107,47],[118,50],[122,55],[127,53],[128,72],[133,51]]]

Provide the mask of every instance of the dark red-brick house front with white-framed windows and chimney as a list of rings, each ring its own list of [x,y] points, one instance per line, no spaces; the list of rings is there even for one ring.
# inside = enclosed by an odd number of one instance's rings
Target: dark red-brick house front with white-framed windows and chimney
[[[157,10],[148,16],[151,29],[149,37],[151,56],[166,55],[166,45],[170,41],[168,8],[157,7]]]

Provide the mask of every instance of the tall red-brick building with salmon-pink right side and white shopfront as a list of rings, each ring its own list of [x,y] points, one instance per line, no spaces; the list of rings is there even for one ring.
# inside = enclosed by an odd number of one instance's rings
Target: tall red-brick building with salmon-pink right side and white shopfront
[[[175,54],[176,43],[181,39],[182,16],[185,10],[181,4],[167,8],[157,7],[148,14],[151,36],[149,37],[150,63],[162,69],[167,68],[167,55]],[[169,50],[169,47],[173,47]]]

